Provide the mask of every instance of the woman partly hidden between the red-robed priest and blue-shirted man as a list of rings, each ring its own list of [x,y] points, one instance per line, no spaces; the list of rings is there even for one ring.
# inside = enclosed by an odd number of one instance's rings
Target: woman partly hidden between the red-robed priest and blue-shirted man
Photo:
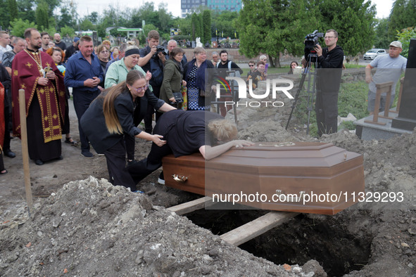
[[[46,50],[46,53],[52,57],[53,63],[55,63],[56,67],[58,67],[58,70],[61,71],[62,75],[65,76],[65,64],[63,63],[63,60],[65,59],[65,53],[62,51],[61,48],[57,46],[53,46]],[[77,141],[74,141],[71,138],[70,134],[70,119],[69,119],[69,105],[68,105],[68,99],[70,98],[70,92],[65,87],[65,117],[62,127],[62,134],[65,134],[65,143],[69,143],[71,146],[77,146]]]

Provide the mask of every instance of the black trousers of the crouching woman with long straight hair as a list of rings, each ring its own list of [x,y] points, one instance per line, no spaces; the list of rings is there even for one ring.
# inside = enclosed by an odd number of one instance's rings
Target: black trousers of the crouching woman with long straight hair
[[[125,186],[131,191],[136,191],[136,183],[126,168],[125,153],[125,143],[122,139],[115,146],[104,151],[107,160],[108,181],[114,186]]]

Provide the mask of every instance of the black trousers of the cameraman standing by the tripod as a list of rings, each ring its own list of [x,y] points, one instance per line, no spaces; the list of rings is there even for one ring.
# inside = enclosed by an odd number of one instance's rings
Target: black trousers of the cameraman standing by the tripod
[[[318,91],[315,103],[317,134],[332,134],[338,130],[338,91]]]

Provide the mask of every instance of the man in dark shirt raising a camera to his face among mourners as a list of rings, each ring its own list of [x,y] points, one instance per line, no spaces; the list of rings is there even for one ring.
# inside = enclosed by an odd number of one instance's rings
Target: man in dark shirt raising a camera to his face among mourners
[[[159,44],[159,33],[156,30],[151,30],[147,34],[148,46],[140,49],[139,62],[137,65],[141,67],[144,72],[151,72],[150,84],[153,88],[153,94],[159,98],[160,86],[163,82],[163,65],[166,61],[166,55],[163,46]],[[155,110],[151,105],[148,105],[146,116],[144,117],[144,131],[151,134],[152,131],[152,116]],[[161,113],[156,112],[156,120],[160,117]]]

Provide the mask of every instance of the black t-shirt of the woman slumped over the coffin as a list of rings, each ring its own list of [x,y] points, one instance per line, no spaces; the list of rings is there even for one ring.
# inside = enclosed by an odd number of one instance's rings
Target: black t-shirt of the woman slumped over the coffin
[[[212,120],[223,119],[215,112],[203,110],[172,110],[165,112],[153,131],[168,141],[175,157],[198,152],[201,146],[211,146],[213,139],[207,128]]]

